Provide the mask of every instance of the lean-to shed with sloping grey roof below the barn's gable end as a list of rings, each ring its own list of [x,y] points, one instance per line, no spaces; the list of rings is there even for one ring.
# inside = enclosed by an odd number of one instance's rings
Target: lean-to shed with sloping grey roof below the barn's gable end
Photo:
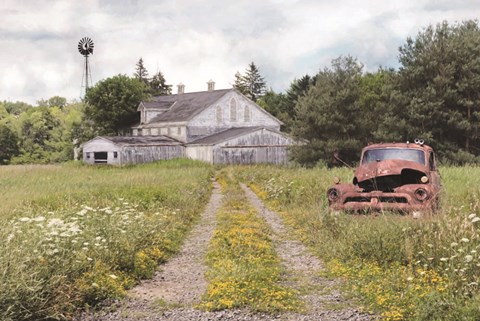
[[[291,138],[270,128],[230,128],[188,143],[186,156],[211,164],[285,164]]]

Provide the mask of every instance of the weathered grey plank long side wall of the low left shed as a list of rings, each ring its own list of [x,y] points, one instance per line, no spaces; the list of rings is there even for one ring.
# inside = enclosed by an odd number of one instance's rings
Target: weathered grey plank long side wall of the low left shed
[[[121,152],[122,164],[149,163],[161,159],[185,157],[185,147],[173,146],[135,146],[124,147]]]

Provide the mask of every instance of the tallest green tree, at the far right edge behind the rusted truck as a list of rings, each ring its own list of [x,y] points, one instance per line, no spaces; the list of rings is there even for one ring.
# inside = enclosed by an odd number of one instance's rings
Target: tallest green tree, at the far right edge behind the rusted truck
[[[456,161],[480,155],[480,28],[476,21],[429,26],[400,48],[397,90],[408,133]],[[452,160],[453,160],[452,159]],[[478,160],[477,160],[478,161]]]

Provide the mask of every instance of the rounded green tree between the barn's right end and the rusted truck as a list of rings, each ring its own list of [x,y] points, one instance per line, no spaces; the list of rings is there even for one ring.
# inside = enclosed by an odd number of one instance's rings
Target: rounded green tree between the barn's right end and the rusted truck
[[[332,61],[319,72],[315,86],[296,105],[292,133],[307,144],[294,149],[294,159],[314,165],[330,161],[334,153],[349,163],[370,138],[360,105],[363,66],[350,56]]]

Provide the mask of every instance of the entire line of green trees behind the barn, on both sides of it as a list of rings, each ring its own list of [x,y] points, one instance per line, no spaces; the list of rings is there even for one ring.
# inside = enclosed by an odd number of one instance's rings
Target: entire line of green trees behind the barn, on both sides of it
[[[279,93],[251,62],[232,85],[283,122],[300,142],[292,158],[303,165],[331,164],[334,153],[353,164],[368,143],[415,138],[444,163],[480,163],[478,21],[428,26],[407,38],[398,59],[397,70],[367,72],[355,57],[340,56]],[[171,94],[171,87],[160,71],[149,77],[140,58],[132,77],[101,80],[81,102],[0,102],[0,164],[72,159],[81,142],[124,134],[139,121],[139,102]]]

